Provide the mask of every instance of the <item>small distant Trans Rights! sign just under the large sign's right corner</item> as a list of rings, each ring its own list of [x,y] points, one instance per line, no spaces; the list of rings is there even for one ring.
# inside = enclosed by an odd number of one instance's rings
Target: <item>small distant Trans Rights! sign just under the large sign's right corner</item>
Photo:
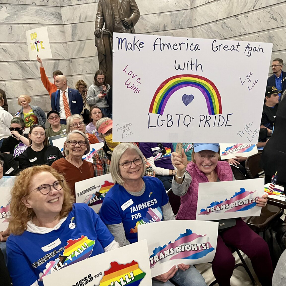
[[[256,144],[251,143],[220,143],[219,146],[222,160],[236,158],[236,156],[249,157],[258,153]]]

